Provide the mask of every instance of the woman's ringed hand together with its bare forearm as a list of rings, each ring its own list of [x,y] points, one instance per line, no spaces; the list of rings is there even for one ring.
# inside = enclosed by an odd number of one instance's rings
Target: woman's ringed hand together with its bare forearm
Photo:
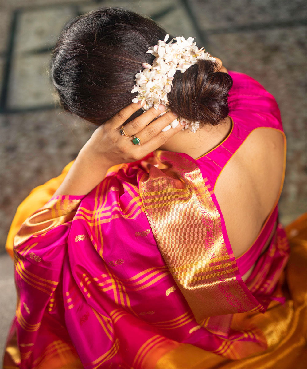
[[[111,166],[142,159],[179,132],[182,129],[180,123],[177,127],[162,132],[178,115],[169,111],[154,120],[165,111],[165,107],[161,107],[162,110],[151,108],[127,123],[124,130],[130,137],[122,136],[120,130],[125,121],[141,108],[139,104],[129,104],[98,127],[80,150],[53,196],[88,194],[104,179]],[[132,143],[133,135],[140,139],[140,145]]]

